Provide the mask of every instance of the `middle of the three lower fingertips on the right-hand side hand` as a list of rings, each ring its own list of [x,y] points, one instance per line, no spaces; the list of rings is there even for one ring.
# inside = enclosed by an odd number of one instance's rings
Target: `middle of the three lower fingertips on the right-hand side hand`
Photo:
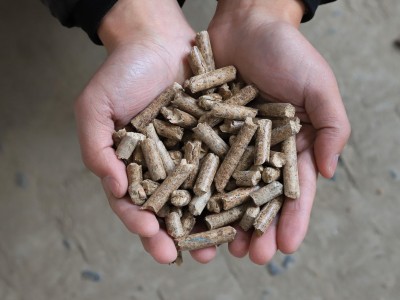
[[[265,265],[276,253],[276,219],[263,235],[257,236],[256,233],[253,233],[251,237],[249,257],[252,262],[258,265]]]

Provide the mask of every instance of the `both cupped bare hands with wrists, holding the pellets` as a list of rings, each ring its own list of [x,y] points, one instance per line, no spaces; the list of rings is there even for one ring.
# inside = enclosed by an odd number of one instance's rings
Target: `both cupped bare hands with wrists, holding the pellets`
[[[291,102],[302,121],[297,137],[301,197],[285,201],[279,220],[261,237],[238,229],[229,251],[257,264],[279,249],[297,250],[305,237],[318,173],[334,174],[350,126],[334,74],[298,31],[300,0],[219,0],[208,31],[216,65],[234,65],[261,94]],[[102,179],[116,215],[159,263],[175,260],[172,239],[151,212],[125,197],[124,164],[112,148],[114,128],[145,108],[172,82],[190,76],[187,56],[195,32],[176,0],[119,0],[103,18],[99,36],[109,56],[75,105],[83,160]],[[202,263],[216,248],[192,251]]]

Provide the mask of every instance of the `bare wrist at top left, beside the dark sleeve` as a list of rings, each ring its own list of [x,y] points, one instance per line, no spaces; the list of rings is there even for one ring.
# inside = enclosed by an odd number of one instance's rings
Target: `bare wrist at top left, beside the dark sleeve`
[[[176,0],[118,0],[103,17],[98,35],[110,52],[143,37],[168,37],[174,31],[191,31]]]

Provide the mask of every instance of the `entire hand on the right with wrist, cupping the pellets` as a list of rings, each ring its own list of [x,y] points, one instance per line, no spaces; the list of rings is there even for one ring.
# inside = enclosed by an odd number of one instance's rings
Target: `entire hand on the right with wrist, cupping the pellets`
[[[277,250],[292,253],[303,241],[318,173],[334,175],[350,125],[328,63],[298,30],[304,6],[298,0],[219,0],[208,28],[217,67],[234,65],[261,95],[296,107],[300,198],[286,199],[279,219],[261,237],[238,228],[230,252],[257,264]]]

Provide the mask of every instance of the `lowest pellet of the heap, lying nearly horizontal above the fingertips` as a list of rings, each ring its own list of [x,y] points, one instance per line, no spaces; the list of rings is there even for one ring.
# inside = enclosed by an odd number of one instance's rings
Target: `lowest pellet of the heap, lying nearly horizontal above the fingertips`
[[[176,241],[176,248],[179,251],[203,249],[223,243],[230,243],[235,239],[235,236],[236,229],[226,226],[180,238]]]

